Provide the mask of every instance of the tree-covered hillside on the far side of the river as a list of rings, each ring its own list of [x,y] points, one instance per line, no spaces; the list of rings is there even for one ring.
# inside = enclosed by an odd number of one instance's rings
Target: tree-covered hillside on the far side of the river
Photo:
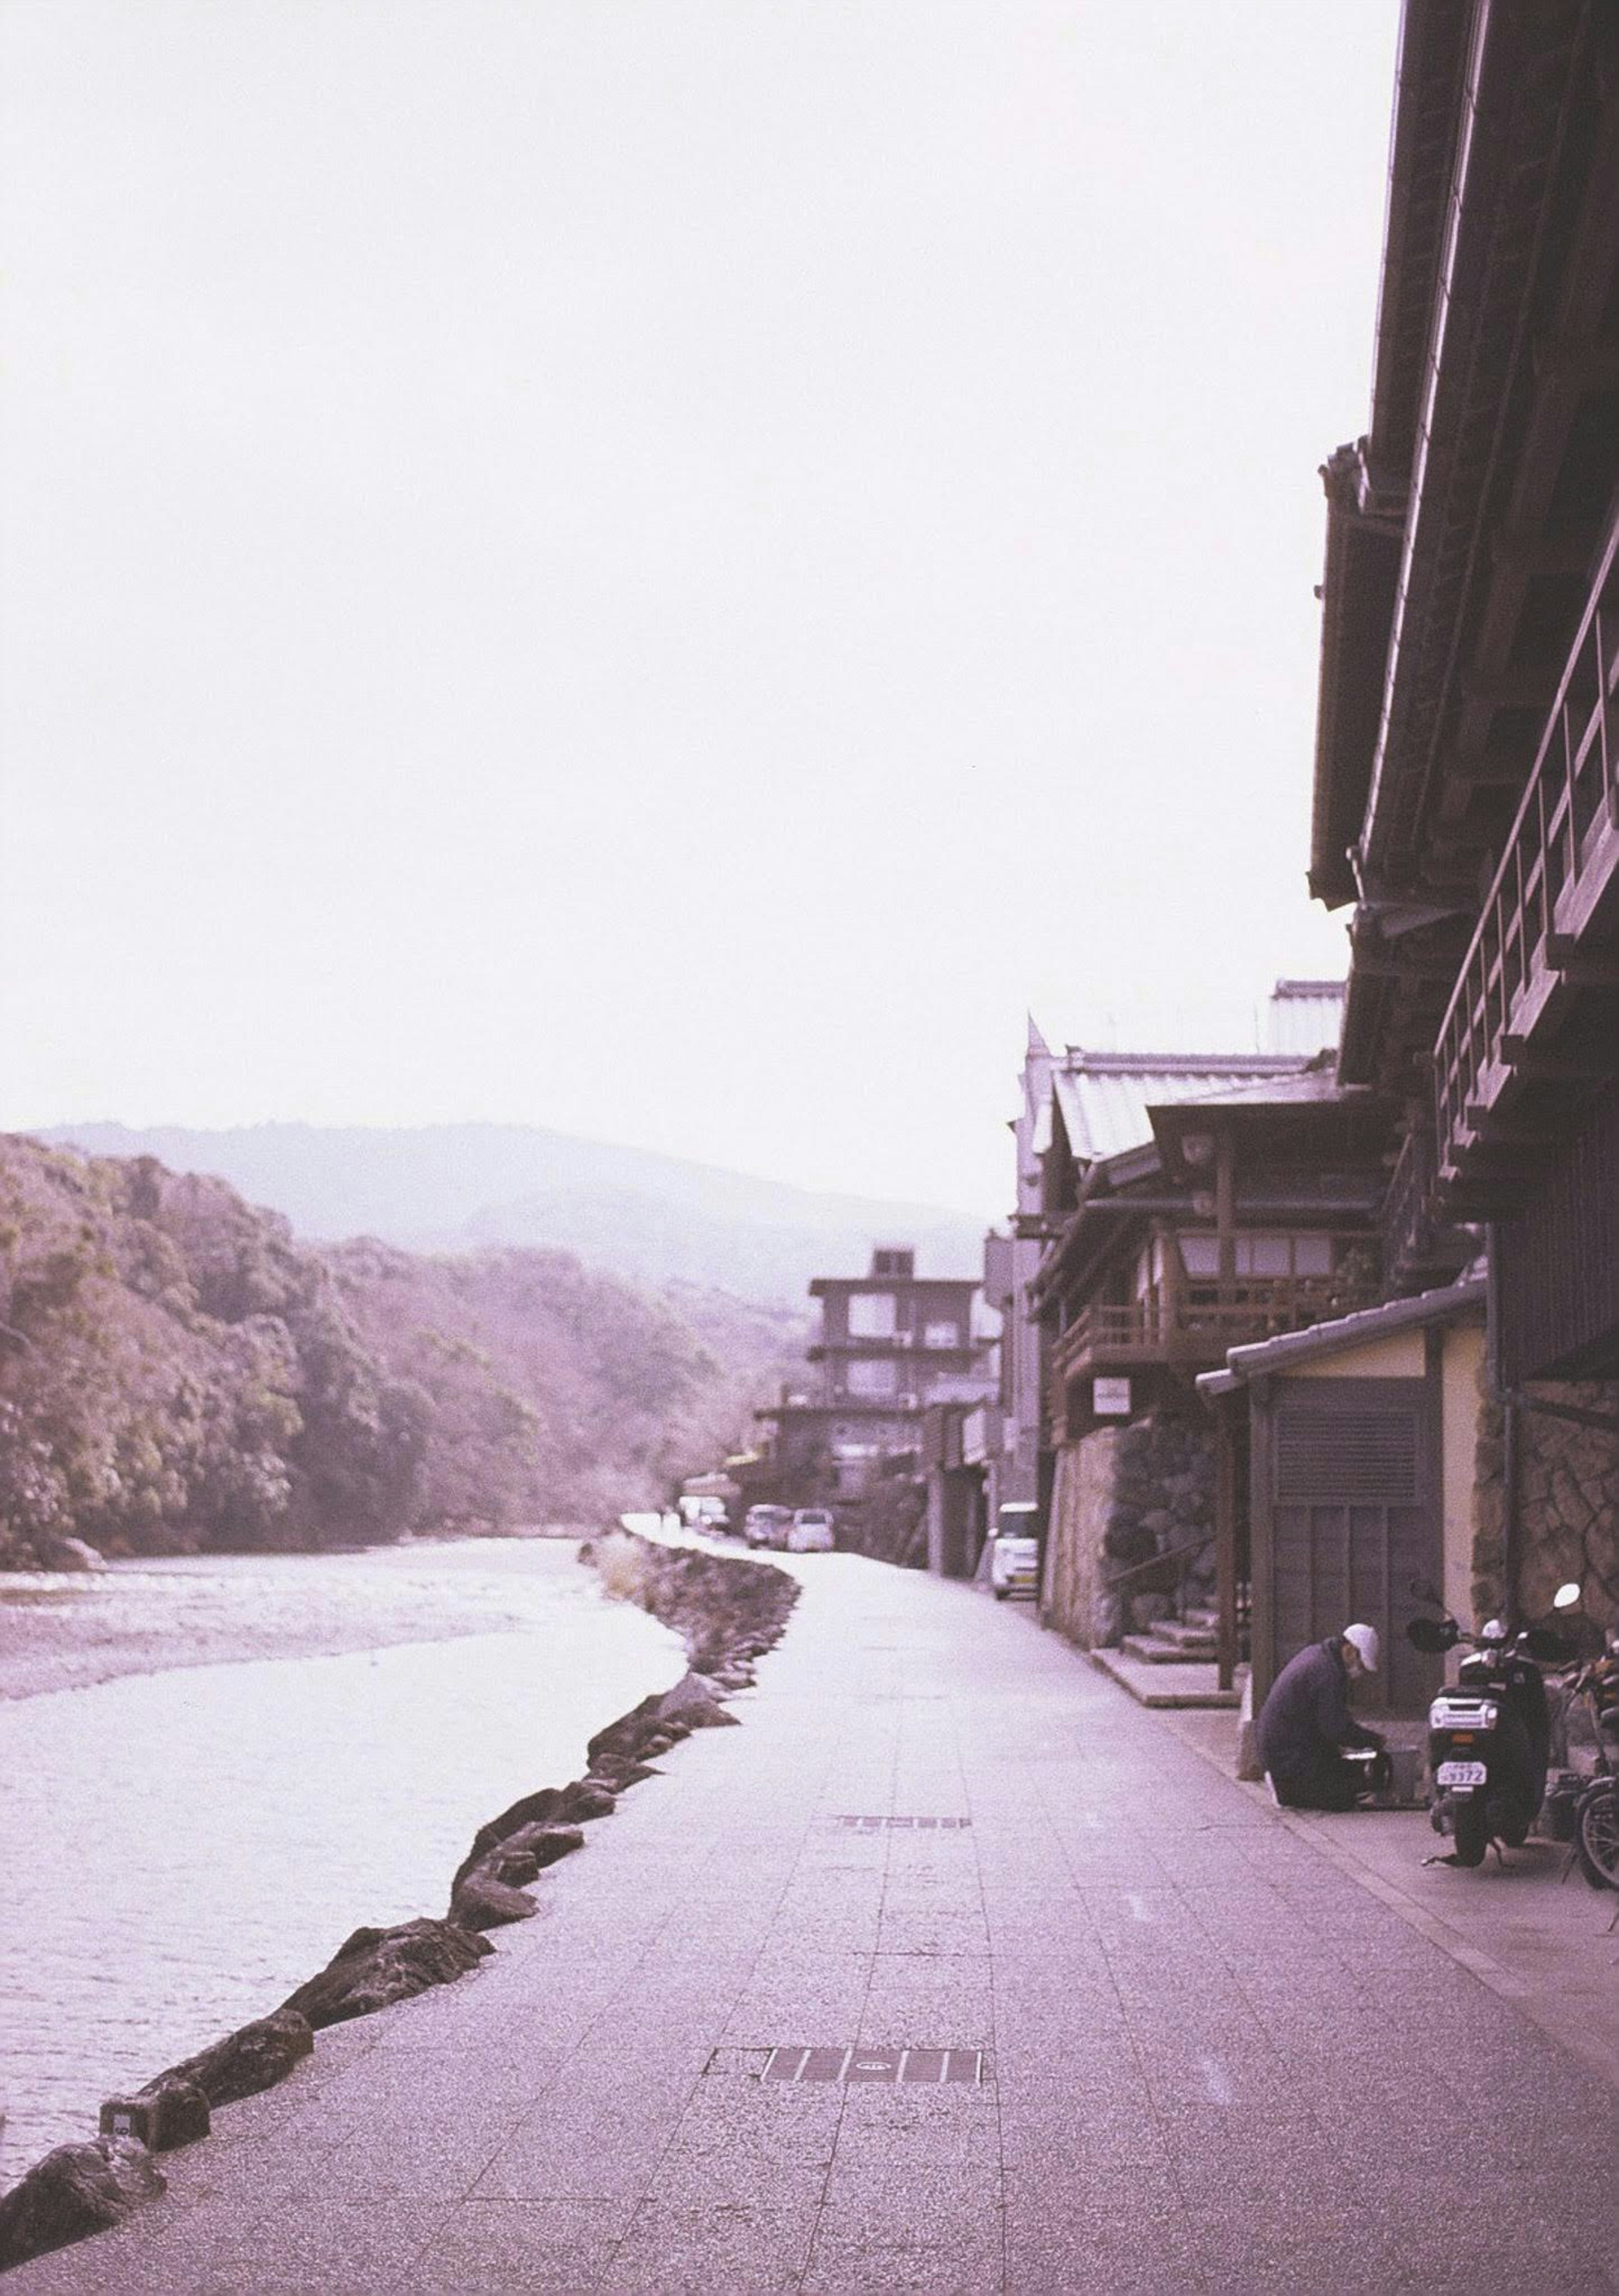
[[[0,1564],[595,1522],[801,1352],[790,1313],[682,1304],[563,1251],[305,1244],[223,1180],[0,1137]]]

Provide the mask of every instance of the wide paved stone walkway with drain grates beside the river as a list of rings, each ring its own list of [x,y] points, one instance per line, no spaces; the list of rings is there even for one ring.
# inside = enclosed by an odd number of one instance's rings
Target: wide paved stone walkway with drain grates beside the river
[[[1027,1612],[799,1570],[540,1919],[7,2296],[1619,2289],[1610,2085]]]

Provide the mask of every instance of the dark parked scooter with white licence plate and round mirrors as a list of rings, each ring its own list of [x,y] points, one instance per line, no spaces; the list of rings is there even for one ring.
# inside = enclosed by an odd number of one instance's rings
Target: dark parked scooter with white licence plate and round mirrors
[[[1412,1589],[1438,1600],[1431,1589]],[[1552,1596],[1555,1609],[1573,1609],[1578,1584]],[[1513,1628],[1490,1619],[1465,1635],[1456,1619],[1412,1619],[1405,1628],[1417,1651],[1431,1658],[1467,1644],[1454,1690],[1428,1706],[1428,1770],[1433,1775],[1433,1830],[1456,1841],[1456,1864],[1484,1864],[1490,1841],[1523,1848],[1546,1798],[1550,1759],[1550,1711],[1541,1667],[1566,1665],[1573,1644],[1546,1626]]]

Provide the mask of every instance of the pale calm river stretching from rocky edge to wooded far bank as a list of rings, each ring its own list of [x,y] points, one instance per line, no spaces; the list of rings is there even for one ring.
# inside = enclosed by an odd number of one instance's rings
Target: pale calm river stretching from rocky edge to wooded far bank
[[[253,1619],[262,1646],[342,1655],[243,1660]],[[11,1653],[34,1678],[34,1621],[69,1662],[140,1649],[165,1671],[5,1697]],[[0,2190],[361,1922],[443,1913],[475,1828],[576,1777],[586,1738],[682,1671],[560,1541],[0,1580]]]

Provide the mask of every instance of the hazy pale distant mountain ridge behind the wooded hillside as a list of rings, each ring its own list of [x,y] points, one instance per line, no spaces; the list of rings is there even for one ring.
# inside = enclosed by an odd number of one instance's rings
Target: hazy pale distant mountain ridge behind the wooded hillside
[[[923,1274],[981,1265],[983,1221],[969,1212],[818,1194],[537,1125],[94,1123],[34,1137],[214,1173],[317,1240],[544,1247],[636,1283],[696,1283],[772,1304],[801,1304],[811,1277],[857,1272],[882,1242],[916,1244]]]

